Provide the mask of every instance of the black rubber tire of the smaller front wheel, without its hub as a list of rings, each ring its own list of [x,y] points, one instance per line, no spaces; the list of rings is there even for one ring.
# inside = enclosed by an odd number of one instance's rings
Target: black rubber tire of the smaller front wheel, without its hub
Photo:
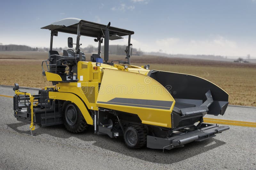
[[[127,132],[128,131],[133,131],[134,133],[137,134],[137,143],[135,145],[131,145],[127,139]],[[137,149],[140,147],[143,147],[147,144],[147,130],[141,125],[132,125],[128,126],[125,131],[124,131],[124,142],[127,147],[132,148],[132,149]]]

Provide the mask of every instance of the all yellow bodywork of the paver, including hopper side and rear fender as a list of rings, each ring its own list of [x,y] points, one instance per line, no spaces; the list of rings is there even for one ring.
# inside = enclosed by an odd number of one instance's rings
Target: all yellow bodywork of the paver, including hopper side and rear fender
[[[175,100],[160,83],[146,75],[148,71],[132,65],[96,66],[95,62],[79,61],[77,82],[62,82],[58,74],[46,72],[47,80],[59,82],[58,92],[49,92],[49,97],[75,103],[88,124],[92,124],[92,118],[81,102],[90,110],[119,110],[137,114],[142,124],[171,127]],[[109,102],[113,99],[128,101]]]

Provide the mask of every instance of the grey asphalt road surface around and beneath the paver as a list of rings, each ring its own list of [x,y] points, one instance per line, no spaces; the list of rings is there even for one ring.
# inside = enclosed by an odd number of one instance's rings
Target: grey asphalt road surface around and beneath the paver
[[[37,94],[35,90],[20,89]],[[29,125],[13,116],[12,88],[0,86],[1,169],[256,169],[256,128],[230,125],[230,130],[182,148],[128,149],[122,138],[73,134],[63,125]],[[5,96],[3,96],[5,95]],[[256,108],[229,106],[220,118],[256,122]]]

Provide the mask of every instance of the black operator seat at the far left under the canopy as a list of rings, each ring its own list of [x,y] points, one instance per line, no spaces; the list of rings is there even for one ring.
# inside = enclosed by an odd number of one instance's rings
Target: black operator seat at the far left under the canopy
[[[61,64],[60,54],[58,51],[50,50],[49,51],[49,64],[50,64],[50,73],[57,73],[57,74],[65,74],[66,66]],[[51,65],[56,64],[56,65]],[[56,68],[57,67],[57,68]]]

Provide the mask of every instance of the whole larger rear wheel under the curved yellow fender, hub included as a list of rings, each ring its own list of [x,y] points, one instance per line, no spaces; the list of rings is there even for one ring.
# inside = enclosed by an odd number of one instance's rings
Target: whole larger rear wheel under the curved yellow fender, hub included
[[[80,133],[86,130],[88,124],[86,123],[84,116],[75,103],[65,102],[63,104],[64,113],[64,125],[66,129],[73,133]]]

